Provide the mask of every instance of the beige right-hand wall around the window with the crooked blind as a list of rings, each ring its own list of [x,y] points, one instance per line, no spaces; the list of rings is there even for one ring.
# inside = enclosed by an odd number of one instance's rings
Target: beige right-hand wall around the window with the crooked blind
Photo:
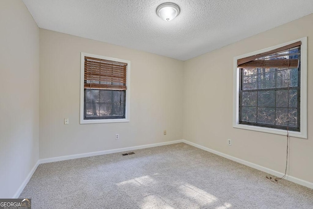
[[[308,139],[291,138],[289,174],[313,182],[313,15],[284,24],[184,63],[183,139],[285,172],[286,140],[232,127],[233,58],[308,36]],[[232,145],[227,145],[232,139]]]

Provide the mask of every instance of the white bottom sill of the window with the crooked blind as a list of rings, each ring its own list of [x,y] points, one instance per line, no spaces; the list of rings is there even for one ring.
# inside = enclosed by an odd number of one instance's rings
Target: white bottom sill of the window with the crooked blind
[[[234,124],[233,127],[234,128],[240,128],[240,129],[246,129],[246,130],[250,130],[250,131],[259,131],[259,132],[265,132],[265,133],[270,133],[270,134],[278,134],[278,135],[287,136],[287,130],[258,127],[258,126],[244,125],[244,124]],[[289,131],[288,134],[290,137],[308,139],[307,135],[305,133],[302,133],[302,132]]]

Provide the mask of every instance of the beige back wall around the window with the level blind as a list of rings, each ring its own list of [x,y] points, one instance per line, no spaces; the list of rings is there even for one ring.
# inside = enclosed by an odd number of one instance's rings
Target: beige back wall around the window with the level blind
[[[79,124],[80,52],[131,61],[130,122]],[[40,29],[40,158],[182,139],[182,68],[175,59]]]

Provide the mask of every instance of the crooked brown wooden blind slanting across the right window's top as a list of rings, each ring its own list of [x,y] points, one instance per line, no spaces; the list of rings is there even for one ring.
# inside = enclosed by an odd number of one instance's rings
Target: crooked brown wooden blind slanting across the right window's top
[[[298,68],[299,60],[298,59],[275,59],[275,60],[258,60],[259,58],[270,56],[273,54],[281,53],[288,51],[291,48],[301,46],[301,41],[276,48],[274,50],[264,52],[261,54],[256,54],[250,57],[245,57],[237,60],[238,68]]]

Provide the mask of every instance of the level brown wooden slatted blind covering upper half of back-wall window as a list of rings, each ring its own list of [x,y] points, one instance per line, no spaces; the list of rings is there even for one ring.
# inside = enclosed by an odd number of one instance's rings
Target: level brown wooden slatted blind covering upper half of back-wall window
[[[85,57],[84,70],[85,89],[127,89],[127,63]]]

